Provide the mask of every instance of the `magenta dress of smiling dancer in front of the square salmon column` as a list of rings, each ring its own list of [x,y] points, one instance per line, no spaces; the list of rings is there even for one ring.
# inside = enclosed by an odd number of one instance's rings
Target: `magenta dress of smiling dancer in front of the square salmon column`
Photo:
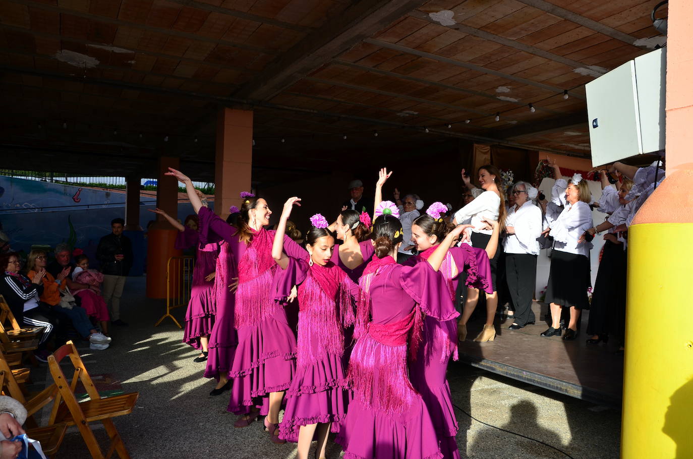
[[[238,347],[229,377],[234,379],[227,410],[237,415],[260,409],[267,415],[270,392],[288,389],[296,364],[296,337],[281,304],[274,301],[272,286],[277,263],[272,259],[274,231],[253,231],[249,244],[238,240],[237,229],[200,209],[200,228],[204,240],[224,239],[238,261],[238,289],[234,326]],[[288,236],[284,250],[290,257],[305,253]]]

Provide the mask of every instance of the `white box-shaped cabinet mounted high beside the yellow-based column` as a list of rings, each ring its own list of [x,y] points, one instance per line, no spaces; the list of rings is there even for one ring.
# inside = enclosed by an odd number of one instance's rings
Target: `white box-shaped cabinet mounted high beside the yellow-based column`
[[[585,85],[593,166],[665,148],[666,73],[660,48]]]

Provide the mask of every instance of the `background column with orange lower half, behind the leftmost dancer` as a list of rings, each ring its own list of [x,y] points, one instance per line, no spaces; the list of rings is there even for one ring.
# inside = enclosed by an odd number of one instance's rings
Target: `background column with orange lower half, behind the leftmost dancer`
[[[180,160],[175,157],[159,158],[159,177],[157,179],[157,207],[174,218],[178,215],[178,181],[164,175],[169,167],[179,168]],[[170,257],[179,257],[182,252],[175,250],[178,230],[157,215],[157,220],[147,233],[147,297],[166,298],[166,266]]]

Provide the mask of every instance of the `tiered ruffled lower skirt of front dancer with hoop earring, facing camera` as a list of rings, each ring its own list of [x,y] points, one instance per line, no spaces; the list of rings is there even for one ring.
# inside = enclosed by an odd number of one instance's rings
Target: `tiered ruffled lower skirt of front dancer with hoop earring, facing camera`
[[[280,438],[298,442],[299,428],[317,422],[331,422],[331,431],[339,432],[350,398],[340,356],[326,355],[310,365],[297,367],[286,391]]]

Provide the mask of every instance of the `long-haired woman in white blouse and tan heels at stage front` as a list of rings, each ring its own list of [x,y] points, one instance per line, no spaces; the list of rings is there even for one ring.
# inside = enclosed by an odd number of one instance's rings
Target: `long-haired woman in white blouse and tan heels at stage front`
[[[465,181],[467,189],[471,189],[471,181],[462,170],[462,178]],[[477,198],[468,205],[459,209],[455,213],[453,223],[455,225],[471,224],[473,225],[471,234],[471,243],[476,248],[486,248],[486,245],[491,239],[493,229],[486,229],[488,225],[482,220],[498,220],[502,228],[505,220],[505,197],[500,192],[500,171],[495,166],[487,164],[479,168],[479,184],[484,189]],[[493,282],[493,293],[486,293],[486,324],[484,329],[475,338],[475,341],[483,343],[485,341],[493,341],[495,339],[495,328],[493,327],[493,318],[495,318],[495,309],[498,307],[498,291],[495,286],[495,272],[498,266],[498,258],[500,250],[495,251],[495,256],[491,259],[491,281]],[[467,321],[474,312],[477,302],[479,301],[479,291],[476,288],[468,288],[467,299],[464,303],[462,317],[457,324],[457,338],[464,341],[467,336]]]

